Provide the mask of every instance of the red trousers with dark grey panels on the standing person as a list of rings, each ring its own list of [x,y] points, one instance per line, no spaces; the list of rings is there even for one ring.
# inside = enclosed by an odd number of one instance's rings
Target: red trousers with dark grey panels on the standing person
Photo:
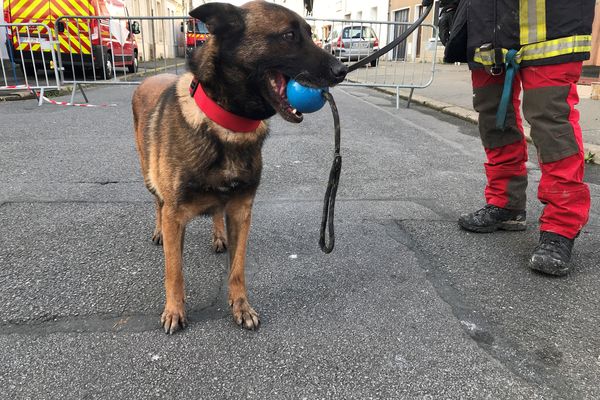
[[[583,183],[584,152],[577,81],[581,62],[522,68],[513,83],[512,104],[504,130],[495,127],[504,75],[473,70],[473,105],[479,112],[479,131],[487,163],[487,204],[525,209],[527,142],[523,114],[531,125],[542,177],[538,199],[545,205],[540,230],[574,238],[588,221],[590,192]]]

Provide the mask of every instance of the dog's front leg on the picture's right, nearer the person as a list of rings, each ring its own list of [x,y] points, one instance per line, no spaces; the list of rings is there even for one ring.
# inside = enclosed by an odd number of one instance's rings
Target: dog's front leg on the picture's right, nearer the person
[[[234,198],[225,208],[229,242],[229,305],[234,321],[246,329],[256,329],[260,325],[258,313],[248,303],[244,275],[253,199],[254,193]]]

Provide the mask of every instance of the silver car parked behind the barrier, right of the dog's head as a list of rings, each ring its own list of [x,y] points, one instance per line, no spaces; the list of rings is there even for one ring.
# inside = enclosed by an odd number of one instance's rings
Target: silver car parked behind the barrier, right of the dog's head
[[[345,26],[339,32],[332,30],[323,48],[342,61],[360,60],[379,50],[379,40],[370,26]],[[376,64],[371,61],[372,67]]]

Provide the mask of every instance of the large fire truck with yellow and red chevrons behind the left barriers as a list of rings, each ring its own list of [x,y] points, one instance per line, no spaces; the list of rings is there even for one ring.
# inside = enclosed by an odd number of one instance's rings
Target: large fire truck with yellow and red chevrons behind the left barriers
[[[8,33],[8,53],[24,69],[49,64],[51,57],[41,53],[54,47],[64,69],[95,70],[98,79],[111,79],[115,67],[137,71],[139,22],[130,19],[122,0],[4,0],[4,19],[43,23],[51,30],[54,43],[39,26],[14,27]]]

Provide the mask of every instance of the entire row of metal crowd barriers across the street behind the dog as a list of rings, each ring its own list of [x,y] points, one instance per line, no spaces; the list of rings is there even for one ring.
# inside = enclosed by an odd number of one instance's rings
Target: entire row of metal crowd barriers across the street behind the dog
[[[410,26],[406,22],[306,20],[312,26],[315,43],[348,63],[385,46]],[[40,89],[43,94],[46,89],[72,85],[70,103],[78,88],[88,101],[84,84],[137,85],[144,75],[167,69],[183,71],[185,58],[208,34],[202,22],[187,16],[62,16],[48,24],[0,27],[10,31],[12,44],[7,46],[12,51],[9,59],[2,60],[3,87]],[[414,90],[433,81],[439,57],[437,28],[422,25],[393,51],[348,74],[342,85],[394,88],[396,107],[400,89],[410,89],[410,105]],[[5,61],[11,68],[9,73]],[[18,70],[16,65],[24,67]],[[19,80],[24,84],[11,85]]]

